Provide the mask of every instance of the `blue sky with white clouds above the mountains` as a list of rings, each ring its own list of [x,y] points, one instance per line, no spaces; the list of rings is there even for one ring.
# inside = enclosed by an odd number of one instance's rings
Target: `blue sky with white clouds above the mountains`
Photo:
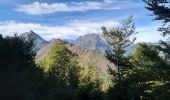
[[[161,22],[153,21],[145,6],[142,0],[0,0],[0,34],[32,30],[45,40],[73,40],[133,16],[136,42],[158,42]]]

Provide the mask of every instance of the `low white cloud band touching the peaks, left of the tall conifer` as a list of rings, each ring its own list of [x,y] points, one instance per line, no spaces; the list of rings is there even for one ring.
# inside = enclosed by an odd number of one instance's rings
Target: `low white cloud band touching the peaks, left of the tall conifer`
[[[15,21],[0,22],[0,33],[7,36],[12,36],[14,32],[19,35],[33,30],[43,38],[49,40],[51,38],[61,39],[75,39],[78,36],[87,33],[100,33],[101,26],[115,26],[118,25],[117,21],[108,20],[105,22],[88,22],[88,21],[75,21],[65,26],[49,26],[37,23],[19,23]]]

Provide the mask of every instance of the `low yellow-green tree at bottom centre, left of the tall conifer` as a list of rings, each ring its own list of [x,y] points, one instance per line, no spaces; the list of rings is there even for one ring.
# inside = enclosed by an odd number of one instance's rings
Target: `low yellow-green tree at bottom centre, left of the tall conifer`
[[[79,100],[101,100],[99,69],[92,65],[81,68],[79,77]]]

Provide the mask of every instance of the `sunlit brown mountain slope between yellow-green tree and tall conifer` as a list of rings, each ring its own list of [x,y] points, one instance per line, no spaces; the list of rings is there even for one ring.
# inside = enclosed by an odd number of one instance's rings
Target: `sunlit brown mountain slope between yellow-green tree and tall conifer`
[[[115,65],[111,63],[104,54],[96,52],[88,48],[81,48],[77,45],[66,44],[69,50],[79,56],[78,62],[80,66],[93,65],[100,69],[102,72],[107,72],[108,66],[115,68]]]

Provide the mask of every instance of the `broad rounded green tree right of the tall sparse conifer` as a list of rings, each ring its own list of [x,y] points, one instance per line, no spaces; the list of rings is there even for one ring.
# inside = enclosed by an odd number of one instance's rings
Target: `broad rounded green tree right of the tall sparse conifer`
[[[133,100],[160,100],[161,95],[168,96],[168,89],[163,90],[168,80],[166,62],[159,56],[154,46],[140,44],[131,56],[132,68],[124,83],[128,84],[128,97]],[[165,99],[164,99],[165,100]]]

